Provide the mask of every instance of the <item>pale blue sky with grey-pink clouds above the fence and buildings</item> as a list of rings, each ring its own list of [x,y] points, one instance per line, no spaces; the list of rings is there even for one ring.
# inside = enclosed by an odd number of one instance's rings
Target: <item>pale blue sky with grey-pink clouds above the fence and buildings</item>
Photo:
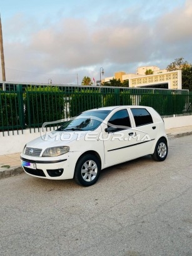
[[[192,0],[0,0],[0,13],[6,81],[81,84],[101,68],[104,79],[192,63]]]

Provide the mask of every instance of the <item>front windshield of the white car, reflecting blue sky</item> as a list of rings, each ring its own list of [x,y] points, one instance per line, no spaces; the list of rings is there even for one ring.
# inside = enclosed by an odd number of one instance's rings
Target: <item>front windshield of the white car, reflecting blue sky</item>
[[[110,110],[84,111],[64,123],[57,131],[93,131],[98,128],[109,112]]]

